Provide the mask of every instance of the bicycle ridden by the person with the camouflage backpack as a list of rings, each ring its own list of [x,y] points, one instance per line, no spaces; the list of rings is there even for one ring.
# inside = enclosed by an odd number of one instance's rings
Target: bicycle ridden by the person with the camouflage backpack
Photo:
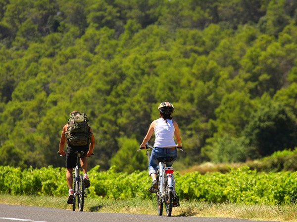
[[[60,154],[60,153],[58,153]],[[74,173],[72,175],[73,177],[73,204],[72,204],[72,211],[75,211],[75,202],[77,198],[77,205],[78,210],[83,211],[84,210],[84,203],[85,203],[85,197],[88,197],[84,180],[83,180],[83,174],[80,173],[81,164],[80,164],[80,156],[84,154],[84,151],[76,151],[75,154],[77,155],[76,158],[76,166],[74,168]],[[94,154],[92,154],[94,155]]]

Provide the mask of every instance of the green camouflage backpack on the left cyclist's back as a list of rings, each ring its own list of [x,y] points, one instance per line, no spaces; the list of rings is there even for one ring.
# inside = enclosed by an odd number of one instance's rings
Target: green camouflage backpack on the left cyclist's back
[[[90,143],[91,132],[87,115],[83,112],[71,113],[65,136],[71,146],[84,146]]]

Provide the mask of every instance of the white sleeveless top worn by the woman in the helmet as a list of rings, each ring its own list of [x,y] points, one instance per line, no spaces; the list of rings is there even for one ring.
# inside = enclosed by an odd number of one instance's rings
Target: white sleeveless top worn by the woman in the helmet
[[[174,125],[171,119],[167,119],[167,123],[164,119],[159,118],[156,120],[157,123],[154,127],[155,141],[154,147],[175,147],[174,142]]]

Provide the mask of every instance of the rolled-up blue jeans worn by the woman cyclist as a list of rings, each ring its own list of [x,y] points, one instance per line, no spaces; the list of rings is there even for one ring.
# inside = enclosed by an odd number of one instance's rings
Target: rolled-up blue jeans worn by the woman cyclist
[[[159,157],[172,157],[173,161],[167,162],[166,167],[171,167],[173,162],[177,158],[177,150],[174,148],[171,150],[171,148],[158,148],[154,147],[151,151],[149,162],[148,162],[148,175],[152,173],[157,173],[157,168],[159,166],[159,162],[157,158]]]

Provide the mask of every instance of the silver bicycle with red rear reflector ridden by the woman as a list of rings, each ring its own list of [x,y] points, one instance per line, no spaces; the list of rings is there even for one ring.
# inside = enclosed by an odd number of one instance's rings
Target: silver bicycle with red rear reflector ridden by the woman
[[[184,151],[181,147],[177,147],[177,148]],[[148,149],[150,149],[151,151],[153,147],[148,145],[148,143],[146,143],[146,149],[147,149],[147,155],[149,160],[150,154]],[[166,163],[171,162],[173,158],[159,157],[157,158],[157,160],[159,162],[159,169],[157,170],[158,188],[154,191],[157,199],[158,215],[162,216],[163,204],[165,203],[166,216],[170,217],[172,213],[172,207],[179,206],[178,196],[176,195],[176,192],[175,192],[175,178],[173,174],[174,170],[173,170],[173,167],[166,167]]]

